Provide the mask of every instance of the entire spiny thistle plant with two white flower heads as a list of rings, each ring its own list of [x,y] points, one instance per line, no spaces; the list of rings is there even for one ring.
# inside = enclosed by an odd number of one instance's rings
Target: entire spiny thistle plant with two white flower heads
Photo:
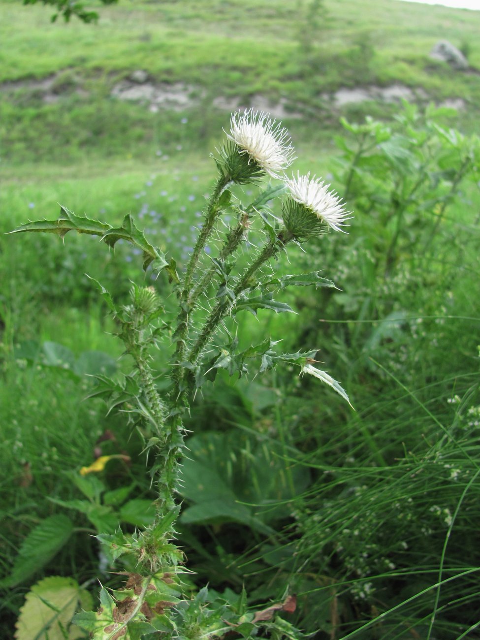
[[[316,349],[278,353],[278,343],[265,339],[241,351],[236,337],[230,335],[228,324],[244,310],[291,312],[289,305],[274,300],[274,292],[292,286],[335,287],[317,271],[278,275],[275,260],[291,244],[303,244],[330,229],[342,230],[349,214],[316,177],[286,177],[294,161],[291,140],[282,125],[267,114],[252,110],[235,113],[226,135],[227,141],[214,157],[218,177],[184,271],[177,269],[175,259],[150,244],[130,215],[120,227],[111,227],[61,207],[57,220],[29,222],[15,230],[53,233],[62,239],[76,230],[99,236],[111,248],[124,239],[143,252],[143,268],[157,276],[164,273],[163,280],[168,280],[170,287],[160,293],[156,287],[133,284],[129,303],[118,305],[102,284],[93,280],[115,318],[116,335],[132,360],[132,371],[120,381],[97,376],[92,396],[102,397],[109,411],[123,410],[131,428],[140,432],[151,463],[148,473],[157,490],[156,517],[150,526],[133,533],[118,529],[114,534],[100,532],[97,536],[111,566],[134,567],[127,571],[124,588],[101,589],[99,611],[83,611],[74,617],[74,623],[97,640],[159,634],[165,638],[211,638],[232,631],[252,637],[262,626],[271,637],[302,637],[287,621],[274,620],[276,612],[294,609],[292,597],[256,614],[246,608],[244,593],[236,605],[209,602],[206,588],[191,598],[186,586],[186,558],[175,543],[185,449],[183,419],[205,380],[213,380],[222,368],[241,376],[255,361],[260,363],[259,372],[286,362],[296,365],[300,373],[324,381],[348,401],[339,383],[314,366]],[[259,188],[249,205],[240,204],[232,189],[247,184],[258,187],[267,177],[278,184]],[[281,219],[270,209],[275,198],[281,200]],[[230,227],[221,221],[226,211],[236,216]],[[264,241],[259,248],[248,249],[246,240],[252,225],[261,227]],[[204,249],[212,237],[220,241],[218,251],[207,258]],[[164,308],[164,300],[172,293],[177,301],[173,321]],[[221,344],[225,334],[227,342]],[[155,347],[171,349],[170,381],[162,392],[152,360]]]

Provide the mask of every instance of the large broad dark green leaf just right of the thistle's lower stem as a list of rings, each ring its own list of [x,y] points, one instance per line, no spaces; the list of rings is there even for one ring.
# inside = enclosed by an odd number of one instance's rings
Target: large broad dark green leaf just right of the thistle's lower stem
[[[269,522],[288,516],[287,501],[310,483],[305,468],[282,460],[285,450],[275,440],[207,432],[187,446],[181,493],[194,504],[182,509],[182,522],[233,520],[264,533]],[[295,457],[296,449],[289,454]]]

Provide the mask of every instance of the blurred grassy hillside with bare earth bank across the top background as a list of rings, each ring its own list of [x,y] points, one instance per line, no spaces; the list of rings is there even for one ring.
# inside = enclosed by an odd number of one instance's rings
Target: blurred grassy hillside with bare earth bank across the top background
[[[100,8],[96,25],[49,22],[49,8],[0,3],[3,163],[77,162],[95,157],[150,156],[178,144],[189,120],[190,145],[208,148],[227,109],[214,100],[289,113],[296,139],[328,141],[339,113],[361,120],[388,116],[395,103],[336,106],[340,88],[401,84],[421,101],[462,99],[460,122],[470,128],[480,103],[480,14],[398,0],[324,3],[120,2]],[[439,39],[468,52],[470,70],[454,72],[430,60]],[[175,112],[148,109],[148,99],[111,97],[135,70],[148,82],[179,86]],[[218,103],[216,103],[218,104]],[[301,116],[301,117],[298,117]],[[309,125],[316,125],[310,127]],[[198,143],[197,143],[198,141]]]

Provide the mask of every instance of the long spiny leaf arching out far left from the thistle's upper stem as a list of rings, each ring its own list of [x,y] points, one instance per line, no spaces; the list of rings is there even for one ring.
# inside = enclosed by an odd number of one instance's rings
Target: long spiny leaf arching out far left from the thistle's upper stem
[[[26,225],[21,225],[10,233],[27,231],[51,233],[61,239],[63,239],[69,231],[76,231],[79,234],[100,236],[100,239],[112,248],[122,239],[134,244],[134,246],[143,251],[143,269],[147,269],[148,265],[152,262],[155,262],[156,271],[161,271],[161,269],[169,266],[164,253],[148,243],[140,229],[135,226],[130,214],[125,216],[121,227],[111,227],[111,225],[107,223],[91,220],[86,216],[76,216],[76,214],[69,211],[67,207],[60,206],[60,218],[58,218],[58,220],[28,222]]]

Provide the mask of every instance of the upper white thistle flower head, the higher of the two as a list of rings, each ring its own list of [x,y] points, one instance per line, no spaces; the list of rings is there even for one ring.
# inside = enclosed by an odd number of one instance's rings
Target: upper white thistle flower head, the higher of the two
[[[233,113],[227,138],[237,145],[240,154],[248,156],[249,164],[253,161],[273,178],[282,179],[281,174],[295,159],[287,130],[264,111]]]

